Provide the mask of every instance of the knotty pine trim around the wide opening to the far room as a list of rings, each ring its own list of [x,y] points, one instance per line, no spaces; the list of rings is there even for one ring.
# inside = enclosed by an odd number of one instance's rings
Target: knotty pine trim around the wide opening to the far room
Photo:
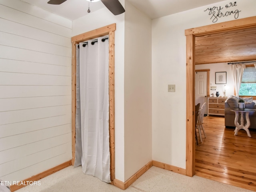
[[[256,16],[185,30],[186,35],[186,175],[195,174],[195,37],[256,26]],[[191,105],[192,104],[192,105]]]

